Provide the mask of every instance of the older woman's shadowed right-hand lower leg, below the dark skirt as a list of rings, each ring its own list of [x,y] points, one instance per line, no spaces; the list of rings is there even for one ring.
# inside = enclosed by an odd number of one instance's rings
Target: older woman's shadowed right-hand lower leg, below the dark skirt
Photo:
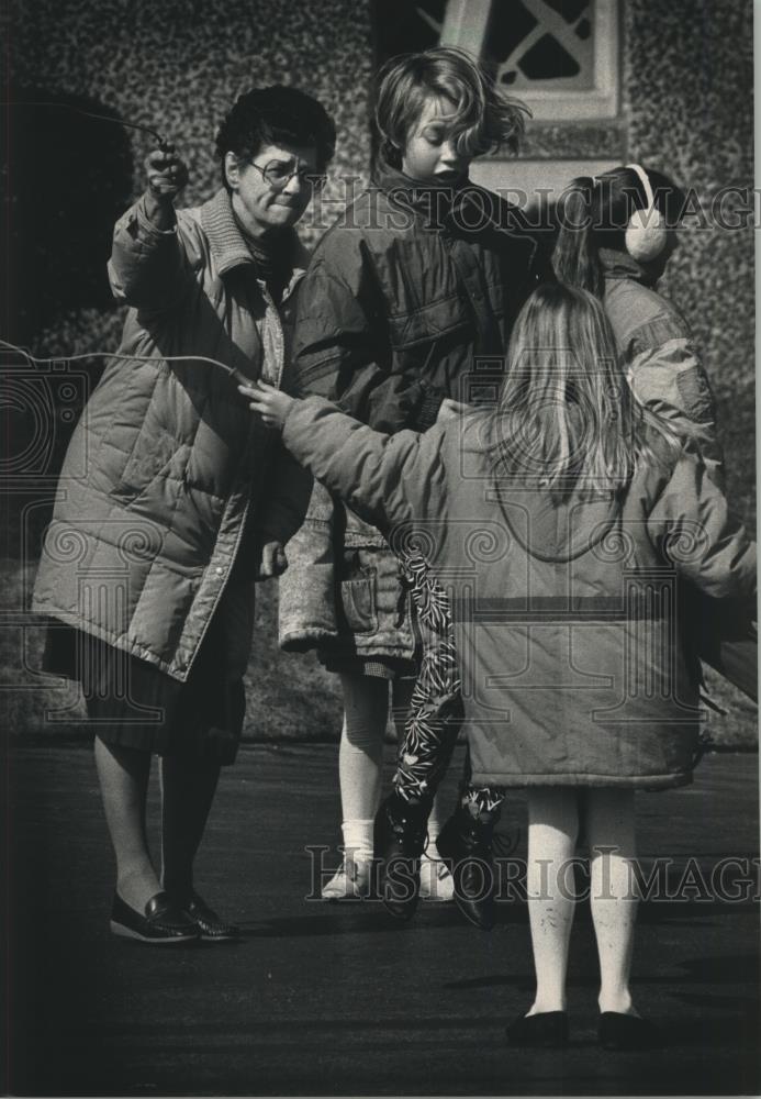
[[[161,759],[161,880],[184,898],[193,889],[193,861],[201,843],[220,765],[201,759]]]

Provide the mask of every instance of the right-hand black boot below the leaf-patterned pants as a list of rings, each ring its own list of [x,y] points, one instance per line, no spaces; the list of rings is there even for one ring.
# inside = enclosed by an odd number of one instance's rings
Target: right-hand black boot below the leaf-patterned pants
[[[436,837],[438,853],[455,882],[455,903],[481,931],[491,931],[496,920],[492,836],[497,820],[491,817],[482,821],[460,806]]]

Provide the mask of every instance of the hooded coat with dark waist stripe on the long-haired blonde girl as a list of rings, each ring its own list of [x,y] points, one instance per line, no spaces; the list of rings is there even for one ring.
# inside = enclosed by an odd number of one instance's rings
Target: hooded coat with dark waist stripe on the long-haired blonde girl
[[[691,780],[697,684],[676,579],[750,599],[754,545],[705,466],[653,436],[623,499],[495,474],[494,413],[388,436],[312,398],[283,441],[451,592],[475,785]],[[497,467],[499,468],[499,467]]]

